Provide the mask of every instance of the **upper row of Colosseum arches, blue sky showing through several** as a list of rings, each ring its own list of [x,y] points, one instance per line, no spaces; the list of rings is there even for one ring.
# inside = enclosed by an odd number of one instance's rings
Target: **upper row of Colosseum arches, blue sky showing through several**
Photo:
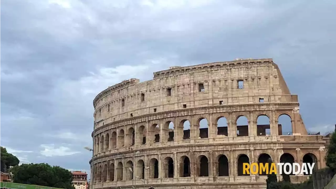
[[[225,117],[218,117],[216,119],[216,134],[228,136],[228,122]],[[236,119],[237,125],[237,137],[249,136],[249,121],[245,116],[238,116]],[[194,125],[196,130],[198,130],[198,136],[200,138],[208,138],[208,121],[206,118],[201,117],[197,120],[197,124]],[[178,139],[190,139],[191,135],[191,124],[189,120],[182,120],[176,127],[177,132],[174,131],[175,126],[172,121],[167,121],[163,124],[163,136],[160,136],[160,126],[158,124],[152,124],[148,130],[144,125],[140,125],[137,128],[137,133],[133,127],[129,127],[125,133],[124,129],[120,129],[117,135],[116,131],[106,135],[101,134],[95,136],[95,152],[103,152],[104,150],[120,148],[123,146],[133,146],[143,145],[146,143],[156,143],[160,141],[174,141],[175,138]],[[279,134],[291,134],[292,133],[292,121],[287,114],[282,114],[278,118],[278,130]],[[289,131],[290,130],[290,131]],[[288,133],[287,133],[288,132]],[[256,125],[257,136],[270,135],[270,119],[266,115],[259,115],[257,117]],[[125,135],[126,134],[126,135]],[[175,136],[181,135],[181,136]],[[125,140],[126,139],[126,140]]]

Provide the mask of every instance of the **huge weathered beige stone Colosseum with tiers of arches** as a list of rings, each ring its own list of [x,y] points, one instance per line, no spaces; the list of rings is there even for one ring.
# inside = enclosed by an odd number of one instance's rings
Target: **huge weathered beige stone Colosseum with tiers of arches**
[[[110,86],[93,106],[94,189],[266,188],[267,176],[243,174],[243,162],[326,166],[327,139],[307,133],[272,59],[174,66]]]

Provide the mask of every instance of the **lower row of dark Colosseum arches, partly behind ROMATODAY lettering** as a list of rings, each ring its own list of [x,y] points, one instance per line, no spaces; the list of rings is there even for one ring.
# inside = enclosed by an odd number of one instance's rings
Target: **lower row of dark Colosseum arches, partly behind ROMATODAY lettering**
[[[157,179],[161,178],[174,178],[177,174],[178,177],[208,177],[210,176],[210,166],[213,166],[216,176],[248,176],[249,174],[243,173],[243,163],[250,163],[250,159],[246,154],[240,154],[236,158],[237,173],[232,173],[229,168],[229,160],[225,155],[219,155],[213,165],[210,164],[206,155],[200,155],[195,159],[196,162],[192,166],[191,160],[188,156],[181,156],[178,166],[175,166],[172,157],[168,156],[163,159],[162,167],[159,166],[159,161],[156,158],[150,159],[147,166],[143,159],[139,159],[135,164],[132,160],[128,160],[125,164],[118,162],[115,167],[114,163],[94,166],[94,182],[107,182],[107,181],[122,181],[122,180],[139,180],[139,179]],[[267,153],[262,153],[258,157],[259,163],[267,163],[272,161],[272,158]],[[280,162],[293,163],[294,157],[289,153],[284,153],[280,157]],[[317,162],[317,157],[312,153],[307,153],[303,156],[302,162],[313,163]],[[315,165],[317,167],[317,164]],[[195,167],[195,168],[194,168]],[[175,172],[175,169],[178,171]],[[161,171],[161,176],[159,174]],[[116,175],[115,175],[116,171]],[[146,172],[149,171],[145,176]],[[266,172],[261,173],[266,175]]]

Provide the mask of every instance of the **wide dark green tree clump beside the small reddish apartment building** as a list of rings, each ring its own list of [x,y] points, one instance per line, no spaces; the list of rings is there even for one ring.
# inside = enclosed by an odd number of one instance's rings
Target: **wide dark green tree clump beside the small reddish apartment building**
[[[22,164],[13,167],[12,173],[15,183],[75,189],[72,185],[71,172],[59,166],[50,166],[46,163]]]

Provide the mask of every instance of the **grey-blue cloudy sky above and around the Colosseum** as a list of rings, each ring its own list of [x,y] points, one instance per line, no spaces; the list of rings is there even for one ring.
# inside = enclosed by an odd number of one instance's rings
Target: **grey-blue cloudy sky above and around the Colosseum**
[[[273,58],[309,131],[332,131],[334,0],[0,0],[0,145],[89,169],[92,100],[169,66]],[[334,58],[332,58],[334,57]]]

